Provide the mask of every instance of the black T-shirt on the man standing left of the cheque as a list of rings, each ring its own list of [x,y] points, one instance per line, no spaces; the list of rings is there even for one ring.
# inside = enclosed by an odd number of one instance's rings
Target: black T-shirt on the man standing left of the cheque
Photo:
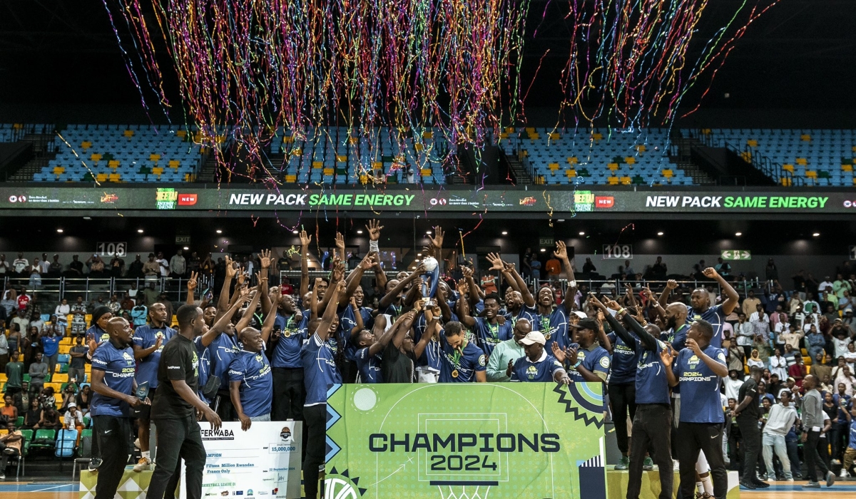
[[[171,380],[183,379],[193,394],[199,391],[199,357],[192,341],[175,335],[161,352],[158,391],[152,401],[152,419],[184,419],[196,409],[175,393]]]

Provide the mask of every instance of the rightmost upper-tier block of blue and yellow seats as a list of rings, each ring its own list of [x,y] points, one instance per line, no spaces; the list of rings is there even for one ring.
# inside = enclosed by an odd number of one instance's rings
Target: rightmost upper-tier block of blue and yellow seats
[[[808,186],[853,187],[856,178],[856,130],[712,128],[715,145],[726,142],[740,151],[760,154],[791,172],[793,183]],[[747,158],[748,159],[748,158]],[[799,181],[795,181],[799,179]],[[788,175],[773,179],[791,185]]]

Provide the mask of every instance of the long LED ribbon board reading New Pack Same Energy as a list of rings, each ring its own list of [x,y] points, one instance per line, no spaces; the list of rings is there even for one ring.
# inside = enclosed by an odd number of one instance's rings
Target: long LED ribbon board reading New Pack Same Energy
[[[127,184],[126,184],[127,185]],[[180,187],[0,187],[2,210],[158,211],[163,215],[198,211],[248,211],[255,214],[300,211],[542,213],[749,213],[856,214],[853,191],[737,191],[657,187],[608,190],[594,187],[447,189],[413,186],[289,186],[238,188],[188,183]]]

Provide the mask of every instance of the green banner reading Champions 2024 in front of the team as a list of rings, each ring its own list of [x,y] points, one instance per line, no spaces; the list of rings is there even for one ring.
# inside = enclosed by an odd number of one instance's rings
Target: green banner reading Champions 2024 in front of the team
[[[336,385],[325,497],[605,499],[601,383]]]

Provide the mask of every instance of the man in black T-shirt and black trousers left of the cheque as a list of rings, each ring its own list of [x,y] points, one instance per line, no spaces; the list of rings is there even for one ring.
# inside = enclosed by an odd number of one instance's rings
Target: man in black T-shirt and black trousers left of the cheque
[[[187,497],[202,496],[202,473],[205,468],[205,447],[196,420],[197,412],[205,416],[211,428],[217,430],[221,421],[197,395],[199,391],[199,357],[193,338],[205,333],[202,309],[182,305],[175,314],[178,334],[173,336],[161,353],[158,365],[158,392],[152,402],[152,422],[158,429],[158,454],[155,472],[146,497],[163,499],[169,478],[176,471],[179,455],[187,466]]]

